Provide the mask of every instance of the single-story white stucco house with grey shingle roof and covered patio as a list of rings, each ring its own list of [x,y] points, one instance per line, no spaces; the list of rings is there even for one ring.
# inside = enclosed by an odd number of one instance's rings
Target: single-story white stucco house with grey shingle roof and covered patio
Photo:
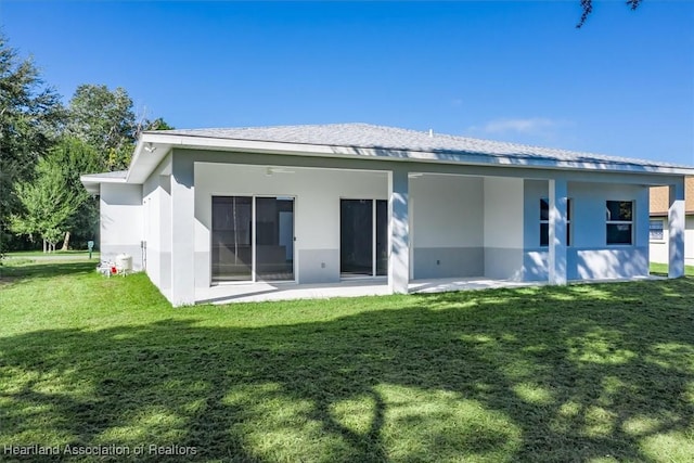
[[[365,124],[144,132],[100,196],[102,258],[133,256],[175,305],[217,294],[484,276],[648,274],[650,188],[668,188],[683,274],[685,166]],[[284,286],[283,286],[284,285]]]

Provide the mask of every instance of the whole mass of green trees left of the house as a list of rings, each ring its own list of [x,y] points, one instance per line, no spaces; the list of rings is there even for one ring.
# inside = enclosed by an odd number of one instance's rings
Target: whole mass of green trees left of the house
[[[140,131],[172,128],[162,117],[136,119],[120,87],[80,85],[64,107],[0,34],[0,256],[17,245],[13,235],[94,237],[98,203],[79,177],[127,168]]]

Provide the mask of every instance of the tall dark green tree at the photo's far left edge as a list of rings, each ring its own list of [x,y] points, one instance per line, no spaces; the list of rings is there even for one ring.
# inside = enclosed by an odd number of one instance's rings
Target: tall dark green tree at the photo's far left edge
[[[9,218],[21,207],[12,192],[17,182],[31,179],[64,116],[59,94],[43,85],[31,60],[20,59],[0,34],[0,253]]]

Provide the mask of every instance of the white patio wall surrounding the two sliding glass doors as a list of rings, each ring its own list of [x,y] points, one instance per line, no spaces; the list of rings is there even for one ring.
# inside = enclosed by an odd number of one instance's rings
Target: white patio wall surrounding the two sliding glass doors
[[[386,172],[195,163],[195,286],[211,283],[211,197],[293,196],[295,276],[299,283],[339,281],[339,201],[387,200]]]

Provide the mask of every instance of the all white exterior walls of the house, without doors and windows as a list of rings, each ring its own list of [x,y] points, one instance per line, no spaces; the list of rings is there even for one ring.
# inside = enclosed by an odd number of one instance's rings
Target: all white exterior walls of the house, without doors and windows
[[[296,280],[323,283],[339,281],[339,200],[388,200],[389,195],[386,170],[285,167],[282,170],[291,173],[268,175],[267,165],[229,164],[233,153],[224,153],[219,163],[215,156],[176,151],[144,185],[101,187],[105,258],[126,252],[138,268],[140,242],[146,241],[146,271],[175,304],[191,304],[195,288],[211,284],[213,196],[293,196]],[[201,157],[206,162],[195,162]],[[415,165],[407,167],[416,171]],[[407,167],[402,166],[401,178]],[[489,169],[491,175],[498,171]],[[547,281],[549,253],[539,244],[539,232],[540,198],[548,197],[548,181],[493,177],[486,171],[460,173],[414,175],[408,180],[410,276]],[[573,216],[567,278],[647,274],[647,188],[569,178],[567,191]],[[609,200],[634,201],[633,245],[606,245],[605,202]],[[687,228],[692,226],[687,221]],[[694,240],[686,241],[690,256]]]

